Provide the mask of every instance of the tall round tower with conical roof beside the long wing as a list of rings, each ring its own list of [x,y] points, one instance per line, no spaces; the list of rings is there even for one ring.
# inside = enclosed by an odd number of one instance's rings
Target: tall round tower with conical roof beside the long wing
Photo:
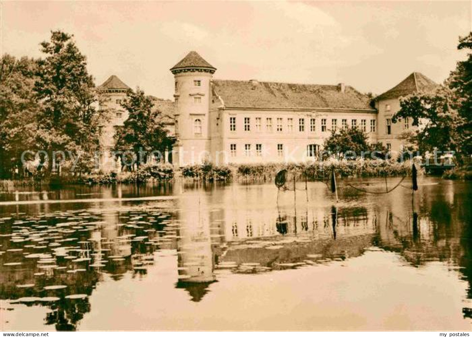
[[[196,51],[170,68],[175,78],[177,141],[172,157],[180,167],[199,164],[210,154],[211,79],[216,71]]]

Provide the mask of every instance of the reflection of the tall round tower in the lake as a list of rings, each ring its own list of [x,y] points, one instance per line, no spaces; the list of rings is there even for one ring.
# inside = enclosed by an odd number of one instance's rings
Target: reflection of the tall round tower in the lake
[[[195,197],[198,202],[195,202]],[[179,280],[193,301],[200,301],[207,286],[215,281],[214,254],[210,236],[210,208],[205,196],[196,191],[179,199],[181,225],[177,239]]]

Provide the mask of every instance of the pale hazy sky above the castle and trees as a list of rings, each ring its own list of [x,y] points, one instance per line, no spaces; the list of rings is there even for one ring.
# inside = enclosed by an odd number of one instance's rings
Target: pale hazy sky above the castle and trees
[[[472,2],[1,2],[1,53],[40,56],[51,30],[75,35],[101,84],[115,74],[171,98],[188,51],[215,78],[345,82],[382,93],[413,71],[442,82],[464,54]]]

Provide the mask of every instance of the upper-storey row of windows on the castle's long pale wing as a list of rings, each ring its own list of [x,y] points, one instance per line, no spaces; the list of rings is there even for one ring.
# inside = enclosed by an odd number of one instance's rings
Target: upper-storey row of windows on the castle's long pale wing
[[[276,130],[277,132],[283,132],[284,126],[287,127],[288,132],[294,131],[294,118],[287,118],[287,125],[284,125],[284,118],[277,118]],[[361,129],[364,132],[367,132],[367,120],[361,119]],[[248,132],[251,131],[251,118],[244,117],[244,131]],[[343,129],[347,129],[347,119],[341,119],[341,127]],[[357,119],[351,119],[351,127],[357,127]],[[376,123],[375,119],[370,120],[370,132],[375,132]],[[255,118],[255,130],[257,132],[261,132],[262,130],[262,118],[256,117]],[[331,119],[331,131],[335,132],[337,130],[337,119]],[[229,131],[234,132],[236,131],[236,117],[229,118]],[[273,132],[274,127],[272,123],[272,118],[268,117],[265,118],[265,131],[266,132]],[[304,132],[305,131],[305,118],[298,118],[298,131]],[[328,131],[327,119],[321,118],[321,132]],[[316,132],[316,119],[310,118],[310,132]]]

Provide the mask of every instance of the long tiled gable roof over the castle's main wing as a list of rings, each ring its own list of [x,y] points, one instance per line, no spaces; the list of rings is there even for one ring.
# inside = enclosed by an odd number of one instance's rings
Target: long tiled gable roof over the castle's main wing
[[[213,92],[231,108],[372,110],[370,98],[351,86],[213,80]]]

